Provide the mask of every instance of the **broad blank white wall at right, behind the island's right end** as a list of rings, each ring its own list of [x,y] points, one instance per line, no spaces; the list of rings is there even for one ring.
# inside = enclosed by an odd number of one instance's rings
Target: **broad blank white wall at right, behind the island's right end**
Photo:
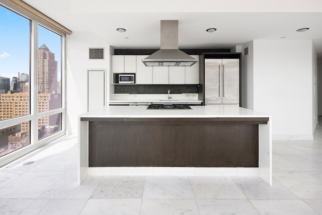
[[[273,116],[274,139],[311,139],[311,40],[254,40],[254,110]]]

